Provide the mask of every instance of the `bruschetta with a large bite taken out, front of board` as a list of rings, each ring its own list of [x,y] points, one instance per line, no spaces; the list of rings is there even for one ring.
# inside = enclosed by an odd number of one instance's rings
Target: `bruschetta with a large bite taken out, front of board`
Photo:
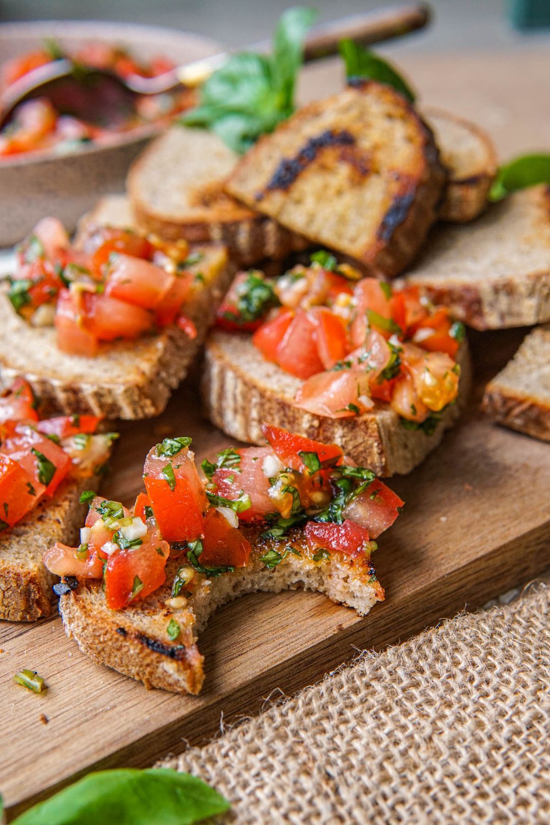
[[[305,587],[369,612],[384,597],[376,540],[402,500],[339,446],[264,425],[262,447],[222,450],[200,478],[190,438],[145,459],[133,512],[85,493],[81,544],[44,555],[84,653],[148,687],[196,694],[197,635],[242,593]]]

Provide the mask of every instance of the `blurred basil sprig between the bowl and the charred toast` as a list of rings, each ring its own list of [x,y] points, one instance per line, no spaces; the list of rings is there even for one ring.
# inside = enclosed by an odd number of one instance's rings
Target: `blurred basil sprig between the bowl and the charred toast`
[[[203,83],[199,106],[181,122],[212,130],[237,153],[272,132],[294,111],[303,40],[315,16],[311,8],[287,9],[275,29],[273,53],[233,54]]]

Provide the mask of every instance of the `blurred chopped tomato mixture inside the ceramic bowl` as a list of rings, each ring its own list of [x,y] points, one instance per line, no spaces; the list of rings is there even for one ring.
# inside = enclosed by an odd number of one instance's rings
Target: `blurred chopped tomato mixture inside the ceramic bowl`
[[[80,73],[82,67],[101,68],[108,69],[121,78],[135,74],[153,78],[174,68],[174,64],[165,57],[154,58],[148,63],[138,61],[119,45],[96,41],[82,45],[72,54],[65,54],[61,45],[49,40],[43,48],[18,54],[0,65],[0,93],[35,68],[64,57],[79,64]],[[74,114],[74,101],[71,101],[70,96],[64,99],[63,90],[58,90],[54,103],[46,97],[39,97],[16,107],[12,120],[0,130],[0,161],[23,153],[46,150],[64,153],[95,141],[105,143],[113,133],[126,132],[157,121],[167,123],[176,114],[192,106],[194,101],[194,93],[181,88],[158,95],[136,95],[134,106],[130,108],[114,106],[113,102],[106,101],[101,108],[100,120],[92,109],[89,109],[86,118],[77,117]]]

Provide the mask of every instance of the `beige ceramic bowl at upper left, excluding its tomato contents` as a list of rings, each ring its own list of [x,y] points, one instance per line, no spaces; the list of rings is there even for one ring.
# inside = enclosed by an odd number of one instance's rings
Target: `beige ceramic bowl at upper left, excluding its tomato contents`
[[[67,50],[90,40],[126,46],[138,58],[157,54],[178,62],[219,51],[214,40],[184,31],[127,23],[48,21],[0,25],[0,61],[40,48],[46,38]],[[114,135],[112,143],[78,151],[0,161],[0,247],[17,243],[40,218],[58,217],[67,229],[101,196],[124,189],[129,164],[161,127],[147,125],[131,134]]]

